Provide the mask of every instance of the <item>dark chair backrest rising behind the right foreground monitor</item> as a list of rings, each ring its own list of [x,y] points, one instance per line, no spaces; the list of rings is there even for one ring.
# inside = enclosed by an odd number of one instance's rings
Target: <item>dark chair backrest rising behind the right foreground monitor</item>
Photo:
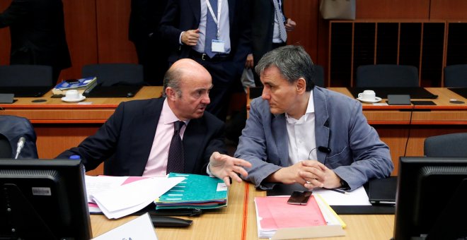
[[[427,157],[467,157],[467,133],[451,133],[425,138]]]

